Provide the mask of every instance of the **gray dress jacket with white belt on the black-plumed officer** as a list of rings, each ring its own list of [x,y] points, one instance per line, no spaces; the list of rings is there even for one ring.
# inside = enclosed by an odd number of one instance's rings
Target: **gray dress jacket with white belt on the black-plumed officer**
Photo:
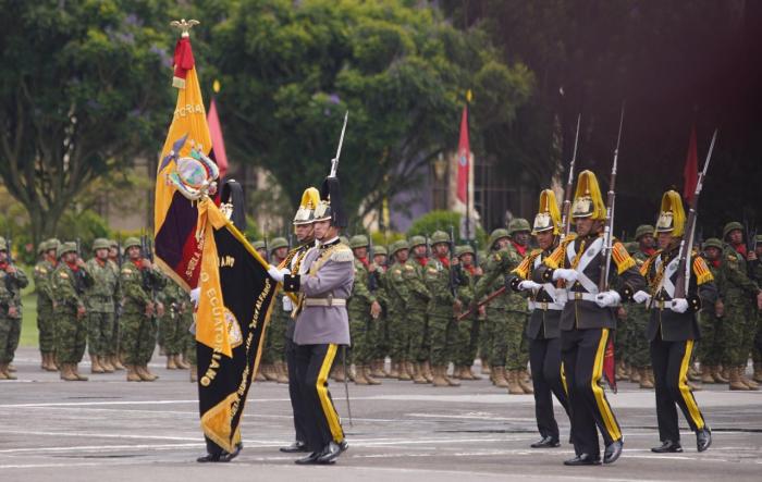
[[[299,274],[285,275],[284,289],[299,293],[294,343],[349,344],[346,299],[355,279],[354,259],[352,249],[336,239],[310,248],[302,261]]]

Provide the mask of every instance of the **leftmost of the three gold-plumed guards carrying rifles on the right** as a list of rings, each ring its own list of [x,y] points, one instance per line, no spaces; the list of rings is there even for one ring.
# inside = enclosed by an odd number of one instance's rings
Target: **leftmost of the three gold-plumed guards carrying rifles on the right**
[[[534,388],[534,418],[542,437],[532,448],[551,448],[561,445],[558,424],[553,415],[553,397],[569,415],[568,394],[561,368],[561,311],[566,304],[566,291],[555,283],[534,283],[532,271],[542,265],[542,260],[558,245],[561,212],[551,189],[540,193],[540,210],[534,217],[532,234],[539,249],[532,250],[514,270],[511,280],[514,291],[529,294],[529,364]],[[570,415],[569,415],[570,418]]]

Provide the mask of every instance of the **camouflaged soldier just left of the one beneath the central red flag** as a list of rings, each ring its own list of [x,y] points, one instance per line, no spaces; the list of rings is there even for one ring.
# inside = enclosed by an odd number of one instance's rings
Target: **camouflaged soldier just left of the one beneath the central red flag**
[[[460,275],[457,260],[450,257],[450,235],[435,231],[431,235],[434,256],[426,265],[423,280],[431,293],[427,309],[429,336],[431,337],[431,367],[434,386],[459,386],[447,376],[447,364],[455,355],[457,320],[463,309],[459,299]],[[457,268],[456,268],[457,267]]]

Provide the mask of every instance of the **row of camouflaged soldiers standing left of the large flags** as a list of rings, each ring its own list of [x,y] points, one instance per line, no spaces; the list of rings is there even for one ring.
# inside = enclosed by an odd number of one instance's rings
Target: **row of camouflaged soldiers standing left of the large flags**
[[[148,363],[157,338],[168,369],[195,363],[195,341],[188,332],[193,305],[184,289],[144,257],[149,249],[137,237],[122,246],[97,238],[93,257],[85,262],[78,243],[56,238],[40,243],[33,274],[44,370],[60,371],[64,381],[87,381],[78,370],[87,349],[93,373],[126,370],[127,381],[152,382],[158,376]],[[28,283],[17,267],[8,263],[4,239],[0,239],[0,270],[5,281],[0,282],[3,380],[15,378],[4,368],[19,344],[21,289]],[[195,371],[190,373],[193,379]]]

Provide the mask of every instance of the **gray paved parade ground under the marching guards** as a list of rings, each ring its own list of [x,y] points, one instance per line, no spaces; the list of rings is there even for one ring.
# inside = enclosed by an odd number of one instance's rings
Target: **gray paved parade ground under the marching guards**
[[[620,382],[609,399],[625,450],[611,466],[564,467],[574,456],[568,419],[556,418],[562,446],[538,440],[531,395],[509,396],[486,380],[433,388],[386,381],[330,388],[349,449],[334,466],[302,467],[278,447],[293,441],[287,387],[255,383],[243,421],[244,449],[230,464],[197,464],[204,450],[196,385],[187,370],[165,370],[155,357],[153,383],[127,383],[124,372],[62,382],[39,369],[34,348],[19,350],[19,381],[0,382],[0,481],[743,481],[762,480],[762,392],[709,385],[696,394],[712,428],[698,454],[680,416],[685,453],[656,455],[652,391]],[[81,363],[89,375],[89,362]]]

